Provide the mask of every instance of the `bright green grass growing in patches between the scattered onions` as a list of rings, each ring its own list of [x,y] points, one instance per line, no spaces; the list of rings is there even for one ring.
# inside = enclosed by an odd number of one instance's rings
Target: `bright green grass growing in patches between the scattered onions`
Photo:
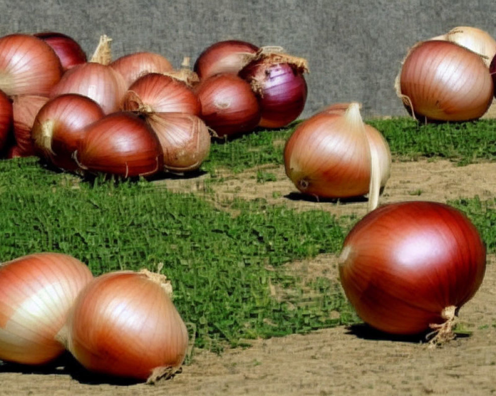
[[[494,160],[496,154],[492,120],[369,122],[399,159],[442,157],[465,164]],[[212,176],[208,185],[222,181],[216,176],[221,168],[239,173],[264,164],[282,165],[284,143],[297,125],[215,142],[200,173]],[[257,168],[260,188],[274,180],[270,168]],[[282,199],[280,205],[237,199],[227,203],[230,210],[220,210],[205,196],[171,193],[167,180],[160,186],[145,180],[82,182],[43,168],[35,158],[0,161],[0,259],[60,251],[87,263],[95,275],[153,270],[164,263],[162,272],[172,280],[178,310],[196,327],[196,346],[211,350],[222,349],[226,342],[243,345],[246,339],[358,320],[335,279],[307,279],[287,265],[337,253],[356,217],[295,211],[284,207]],[[494,252],[496,201],[476,197],[450,203],[468,214]]]

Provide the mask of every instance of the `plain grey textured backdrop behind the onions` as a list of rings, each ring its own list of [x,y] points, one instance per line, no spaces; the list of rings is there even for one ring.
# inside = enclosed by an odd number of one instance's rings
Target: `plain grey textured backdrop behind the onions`
[[[114,58],[149,50],[179,67],[216,41],[278,45],[308,59],[303,116],[356,100],[365,116],[406,115],[393,89],[415,42],[470,25],[496,34],[491,0],[0,0],[0,35],[53,30],[91,54],[101,34]]]

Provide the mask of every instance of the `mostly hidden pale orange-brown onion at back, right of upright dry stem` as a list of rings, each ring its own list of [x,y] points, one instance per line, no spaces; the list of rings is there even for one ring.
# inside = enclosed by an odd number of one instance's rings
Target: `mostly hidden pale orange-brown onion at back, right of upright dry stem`
[[[166,73],[174,70],[167,58],[154,52],[130,53],[114,60],[109,66],[124,77],[126,87],[145,74]]]

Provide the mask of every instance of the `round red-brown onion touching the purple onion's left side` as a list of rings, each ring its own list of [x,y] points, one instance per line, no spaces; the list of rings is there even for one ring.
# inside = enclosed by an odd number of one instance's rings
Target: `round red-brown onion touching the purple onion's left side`
[[[258,100],[242,78],[217,74],[200,81],[195,90],[201,102],[201,118],[217,136],[238,135],[258,125]]]

